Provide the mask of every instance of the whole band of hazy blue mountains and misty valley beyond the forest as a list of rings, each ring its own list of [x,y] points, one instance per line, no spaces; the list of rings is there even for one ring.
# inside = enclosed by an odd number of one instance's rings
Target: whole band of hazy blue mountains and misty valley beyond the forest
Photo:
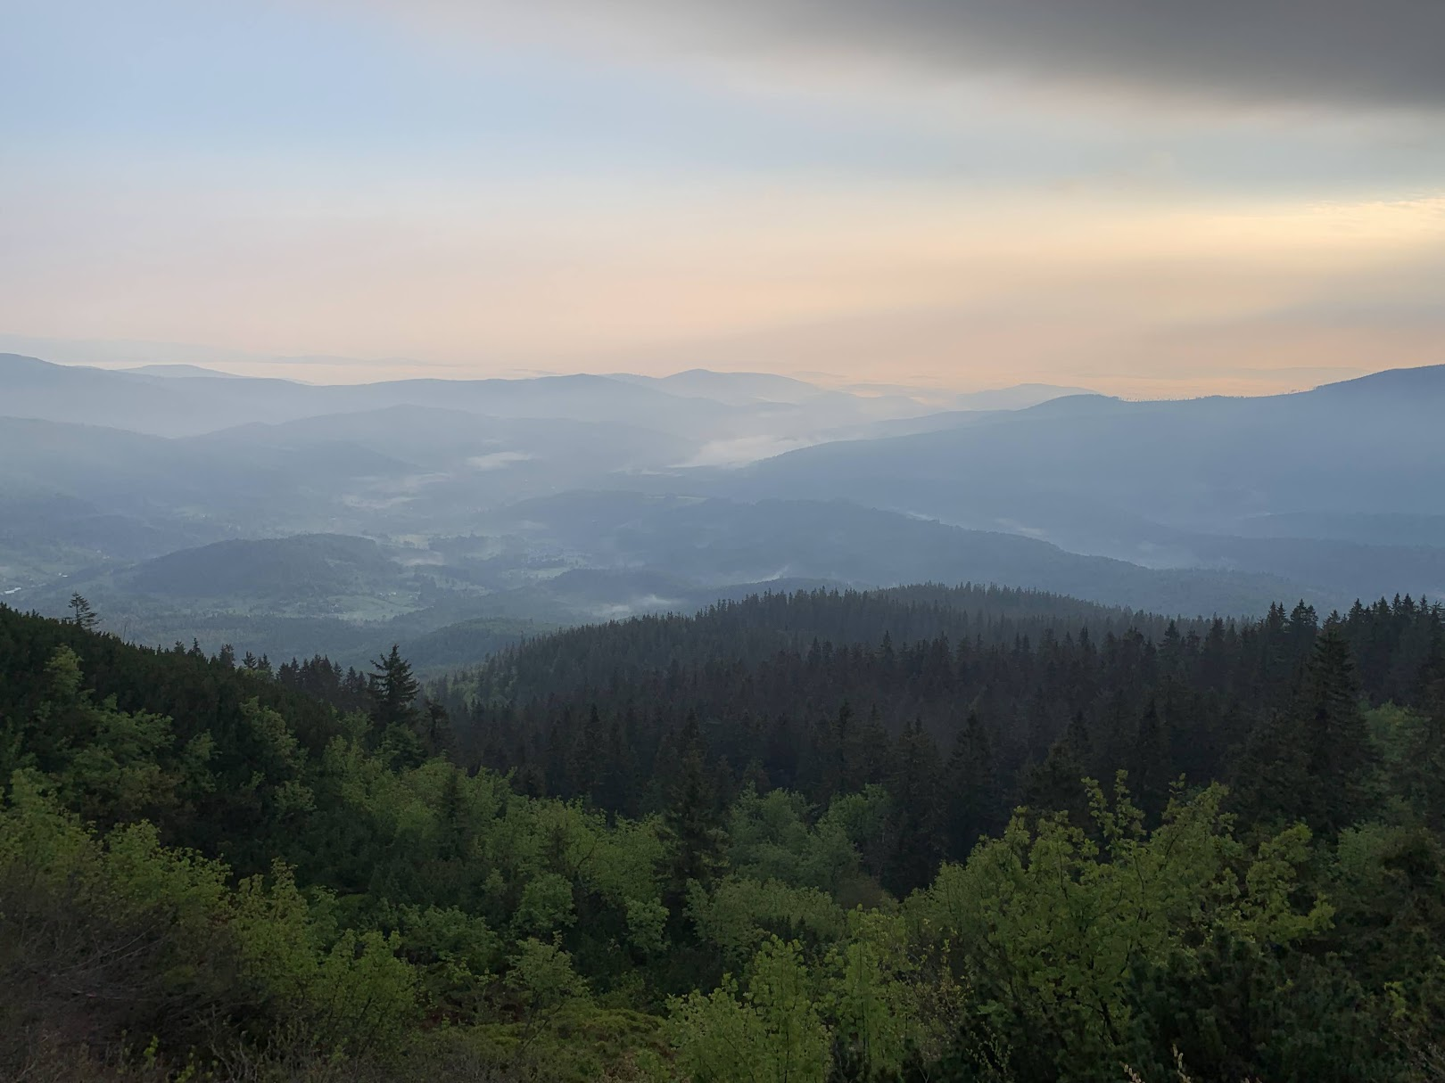
[[[490,618],[760,583],[997,582],[1179,614],[1445,592],[1420,504],[1442,491],[1445,367],[1263,399],[1075,391],[939,410],[756,373],[312,387],[7,355],[0,591],[59,611],[82,585],[153,638],[257,651],[267,621],[494,645]]]

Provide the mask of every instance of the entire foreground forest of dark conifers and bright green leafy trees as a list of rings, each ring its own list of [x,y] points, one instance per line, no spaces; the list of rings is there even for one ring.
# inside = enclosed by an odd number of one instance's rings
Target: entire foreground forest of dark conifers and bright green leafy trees
[[[1445,1079],[1445,611],[764,593],[422,680],[0,606],[0,1077]]]

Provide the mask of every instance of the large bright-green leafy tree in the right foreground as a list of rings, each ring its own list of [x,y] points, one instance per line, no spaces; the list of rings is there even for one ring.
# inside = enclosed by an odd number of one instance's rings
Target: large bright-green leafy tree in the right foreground
[[[955,947],[971,1011],[1001,1025],[1026,1074],[1111,1077],[1143,1041],[1131,993],[1140,970],[1215,936],[1286,947],[1331,917],[1319,900],[1298,901],[1305,827],[1250,859],[1220,787],[1176,797],[1152,833],[1123,783],[1113,804],[1087,787],[1100,842],[1061,814],[1035,826],[1019,816],[907,910],[922,937]]]

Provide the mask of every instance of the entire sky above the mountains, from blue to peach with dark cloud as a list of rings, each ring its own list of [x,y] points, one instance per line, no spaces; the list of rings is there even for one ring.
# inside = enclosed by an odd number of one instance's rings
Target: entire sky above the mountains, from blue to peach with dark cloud
[[[1445,362],[1438,0],[4,0],[0,348],[1133,397]]]

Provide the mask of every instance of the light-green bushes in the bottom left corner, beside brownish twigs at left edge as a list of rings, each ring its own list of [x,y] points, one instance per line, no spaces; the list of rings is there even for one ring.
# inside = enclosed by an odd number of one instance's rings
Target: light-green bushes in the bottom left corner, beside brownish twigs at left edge
[[[415,1022],[394,939],[331,933],[288,868],[233,888],[224,864],[162,846],[150,825],[97,838],[25,774],[0,812],[0,878],[6,985],[40,991],[7,998],[12,1022],[45,1005],[32,1022],[114,1017],[184,1048],[205,1015],[238,1014],[348,1053],[396,1050]]]

